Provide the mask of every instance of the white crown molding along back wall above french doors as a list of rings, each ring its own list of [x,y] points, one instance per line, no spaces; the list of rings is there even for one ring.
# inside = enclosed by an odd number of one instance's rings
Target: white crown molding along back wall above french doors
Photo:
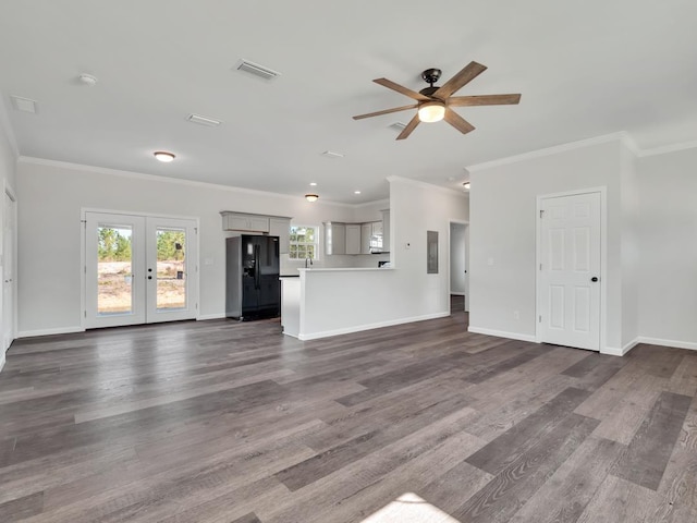
[[[32,156],[20,156],[17,158],[17,163],[56,167],[59,169],[72,169],[72,170],[82,171],[82,172],[91,172],[91,173],[106,174],[106,175],[112,175],[112,177],[131,178],[131,179],[145,180],[145,181],[151,181],[151,182],[158,182],[158,183],[173,183],[178,185],[186,185],[189,187],[212,188],[216,191],[227,191],[230,193],[237,193],[237,194],[253,194],[256,196],[286,198],[286,199],[294,199],[294,200],[297,200],[298,198],[302,197],[302,196],[293,196],[290,194],[271,193],[269,191],[258,191],[255,188],[244,188],[244,187],[235,187],[232,185],[222,185],[219,183],[200,182],[197,180],[161,177],[158,174],[145,174],[143,172],[124,171],[121,169],[111,169],[108,167],[86,166],[84,163],[73,163],[70,161],[62,161],[62,160],[49,160],[46,158],[36,158]],[[317,205],[317,204],[320,204],[320,205],[329,204],[338,207],[351,207],[351,208],[356,207],[356,204],[345,204],[343,202],[332,202],[329,199],[323,199],[323,200],[320,199],[314,205]]]

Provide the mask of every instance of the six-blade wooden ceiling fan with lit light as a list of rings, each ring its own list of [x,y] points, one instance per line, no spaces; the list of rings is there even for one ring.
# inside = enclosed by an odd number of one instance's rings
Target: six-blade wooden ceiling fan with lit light
[[[441,75],[440,69],[427,69],[421,73],[421,78],[428,84],[429,87],[425,87],[418,93],[415,90],[403,87],[388,78],[376,78],[374,82],[380,84],[388,89],[396,90],[403,95],[408,96],[416,100],[416,104],[411,106],[394,107],[392,109],[386,109],[383,111],[369,112],[367,114],[358,114],[353,117],[354,120],[362,120],[364,118],[379,117],[381,114],[389,114],[391,112],[406,111],[407,109],[416,109],[418,111],[412,118],[406,127],[400,133],[396,139],[406,138],[420,122],[438,122],[445,120],[453,127],[461,133],[465,134],[469,131],[474,131],[474,125],[467,120],[462,118],[452,107],[466,107],[466,106],[505,106],[515,105],[521,101],[521,95],[481,95],[481,96],[452,96],[456,90],[467,85],[475,80],[481,73],[487,70],[486,65],[481,65],[477,62],[469,62],[462,71],[455,74],[452,78],[445,82],[440,87],[433,84],[438,82]]]

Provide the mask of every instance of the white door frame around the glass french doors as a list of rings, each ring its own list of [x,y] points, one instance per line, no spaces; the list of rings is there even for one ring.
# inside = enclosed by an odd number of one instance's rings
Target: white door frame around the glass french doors
[[[15,207],[16,208],[16,207]],[[81,329],[87,330],[87,265],[86,265],[86,243],[87,243],[87,212],[103,212],[108,215],[125,215],[125,216],[143,216],[150,218],[166,218],[166,219],[175,219],[175,220],[192,220],[196,222],[196,230],[198,234],[196,234],[196,259],[195,263],[195,283],[196,283],[196,292],[193,299],[195,300],[196,307],[196,321],[200,319],[200,218],[197,216],[182,216],[182,215],[167,215],[163,212],[139,212],[137,210],[113,210],[113,209],[103,209],[103,208],[95,208],[95,207],[82,207],[80,209],[80,327]]]

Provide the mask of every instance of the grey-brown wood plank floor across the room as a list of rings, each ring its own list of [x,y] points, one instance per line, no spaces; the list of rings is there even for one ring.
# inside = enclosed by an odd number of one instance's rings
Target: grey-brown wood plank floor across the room
[[[0,374],[0,521],[697,521],[697,353],[620,358],[466,321],[19,340]]]

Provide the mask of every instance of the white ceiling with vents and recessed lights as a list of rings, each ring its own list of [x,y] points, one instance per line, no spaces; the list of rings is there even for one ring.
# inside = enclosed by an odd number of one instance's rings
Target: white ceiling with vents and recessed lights
[[[695,0],[2,0],[0,93],[24,156],[298,197],[314,181],[362,203],[388,175],[457,187],[466,166],[617,131],[641,148],[696,139],[696,22]],[[472,60],[489,70],[458,95],[523,94],[457,109],[473,133],[440,122],[395,142],[413,112],[351,118],[411,102],[372,78],[418,90],[424,69],[448,80]]]

